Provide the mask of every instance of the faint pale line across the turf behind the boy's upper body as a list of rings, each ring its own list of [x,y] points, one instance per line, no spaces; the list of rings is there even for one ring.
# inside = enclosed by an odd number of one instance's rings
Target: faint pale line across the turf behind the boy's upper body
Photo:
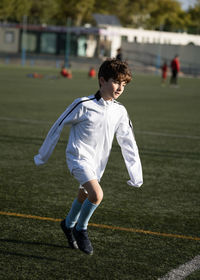
[[[18,122],[18,123],[31,123],[31,124],[49,124],[53,125],[53,121],[42,121],[42,120],[31,120],[31,119],[15,119],[8,117],[0,117],[0,121],[8,121],[8,122]],[[186,138],[199,140],[200,136],[196,135],[183,135],[183,134],[173,134],[173,133],[165,133],[165,132],[154,132],[154,131],[140,131],[135,130],[137,134],[145,134],[145,135],[153,135],[153,136],[163,136],[163,137],[173,137],[173,138]]]

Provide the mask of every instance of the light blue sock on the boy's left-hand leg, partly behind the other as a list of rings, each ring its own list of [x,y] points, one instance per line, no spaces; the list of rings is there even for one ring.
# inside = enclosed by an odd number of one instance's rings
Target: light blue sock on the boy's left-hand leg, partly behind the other
[[[73,228],[75,226],[81,212],[81,207],[82,207],[82,203],[80,203],[76,198],[73,201],[72,207],[65,219],[65,225],[67,228]]]

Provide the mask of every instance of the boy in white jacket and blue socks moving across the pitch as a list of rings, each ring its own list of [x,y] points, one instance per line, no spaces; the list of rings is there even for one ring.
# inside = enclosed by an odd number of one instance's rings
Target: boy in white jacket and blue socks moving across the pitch
[[[71,210],[61,222],[61,228],[71,248],[79,248],[89,255],[93,253],[93,248],[87,226],[103,198],[99,182],[115,134],[130,176],[128,185],[140,187],[143,183],[131,122],[124,106],[116,101],[131,81],[131,72],[125,62],[109,59],[100,66],[98,79],[99,91],[95,95],[76,99],[66,109],[50,129],[39,154],[34,157],[36,165],[47,162],[63,126],[71,125],[66,158],[68,168],[80,187]]]

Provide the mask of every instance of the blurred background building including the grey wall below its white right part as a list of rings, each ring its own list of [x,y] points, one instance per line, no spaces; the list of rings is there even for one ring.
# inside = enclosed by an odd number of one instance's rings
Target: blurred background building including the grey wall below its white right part
[[[124,28],[115,16],[93,16],[95,27],[27,25],[25,33],[20,24],[0,23],[0,58],[14,54],[20,56],[22,42],[26,41],[27,57],[34,60],[41,57],[54,59],[56,56],[62,60],[66,53],[67,33],[70,33],[71,59],[102,60],[115,57],[117,49],[122,48],[123,58],[133,67],[138,64],[159,69],[162,60],[168,61],[179,53],[184,69],[200,73],[200,35]]]

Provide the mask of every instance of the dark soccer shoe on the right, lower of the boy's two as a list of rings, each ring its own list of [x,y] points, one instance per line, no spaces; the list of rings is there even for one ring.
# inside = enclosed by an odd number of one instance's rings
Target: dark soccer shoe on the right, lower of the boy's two
[[[88,238],[87,230],[78,231],[76,227],[73,229],[73,234],[78,244],[78,248],[88,255],[93,254],[92,244]]]

